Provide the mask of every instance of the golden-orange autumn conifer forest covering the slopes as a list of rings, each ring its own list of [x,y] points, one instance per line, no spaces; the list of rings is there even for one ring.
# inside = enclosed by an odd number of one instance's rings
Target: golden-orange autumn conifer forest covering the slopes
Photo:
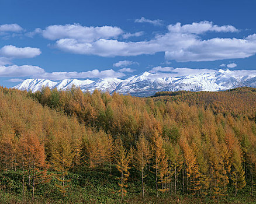
[[[116,175],[124,200],[135,180],[143,199],[253,196],[255,112],[251,88],[139,98],[0,87],[1,189],[34,199],[50,183],[68,196],[71,173],[97,172]]]

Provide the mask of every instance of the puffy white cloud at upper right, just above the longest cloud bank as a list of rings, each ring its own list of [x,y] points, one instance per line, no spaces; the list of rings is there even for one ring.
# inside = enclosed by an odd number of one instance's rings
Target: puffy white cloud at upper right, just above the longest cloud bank
[[[199,23],[185,24],[181,26],[181,23],[170,24],[168,30],[171,33],[194,33],[200,34],[205,33],[206,31],[215,31],[215,32],[238,32],[236,27],[231,25],[217,26],[213,22],[202,21]]]

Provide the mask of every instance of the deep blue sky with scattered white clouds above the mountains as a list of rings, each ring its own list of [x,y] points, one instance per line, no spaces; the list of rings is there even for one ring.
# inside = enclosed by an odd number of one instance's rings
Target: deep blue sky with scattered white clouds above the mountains
[[[170,67],[255,70],[255,8],[248,0],[2,0],[0,85]]]

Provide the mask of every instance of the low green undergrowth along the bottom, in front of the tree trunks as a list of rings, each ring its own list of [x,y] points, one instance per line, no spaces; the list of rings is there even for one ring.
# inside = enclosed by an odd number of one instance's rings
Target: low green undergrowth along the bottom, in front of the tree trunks
[[[131,174],[136,172],[131,171]],[[81,171],[70,173],[71,179],[65,197],[56,188],[56,180],[40,185],[36,188],[35,199],[26,194],[22,196],[22,183],[19,173],[8,172],[1,174],[0,203],[256,203],[256,198],[250,196],[250,187],[247,185],[237,196],[233,196],[232,189],[229,189],[229,196],[212,198],[205,196],[200,198],[193,195],[168,195],[160,194],[158,197],[154,190],[154,177],[148,175],[146,178],[146,198],[143,201],[141,194],[141,183],[139,176],[130,177],[127,195],[122,198],[119,192],[119,185],[116,177],[117,172],[113,171]],[[10,187],[7,188],[7,185]],[[3,188],[5,186],[5,188]],[[31,195],[30,195],[31,196]]]

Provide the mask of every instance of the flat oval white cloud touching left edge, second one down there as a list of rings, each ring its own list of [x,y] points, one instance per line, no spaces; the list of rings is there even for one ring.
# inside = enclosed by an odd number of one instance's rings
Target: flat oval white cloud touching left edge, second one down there
[[[0,49],[0,55],[7,58],[33,58],[40,54],[40,49],[33,47],[15,47],[13,45],[5,45]]]

